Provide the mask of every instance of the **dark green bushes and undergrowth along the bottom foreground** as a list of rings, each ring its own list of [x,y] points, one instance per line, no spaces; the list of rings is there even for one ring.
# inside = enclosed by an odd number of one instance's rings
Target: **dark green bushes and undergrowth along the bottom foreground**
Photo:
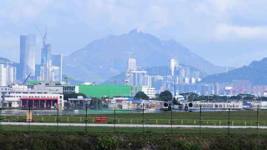
[[[1,132],[1,150],[266,150],[266,135]]]

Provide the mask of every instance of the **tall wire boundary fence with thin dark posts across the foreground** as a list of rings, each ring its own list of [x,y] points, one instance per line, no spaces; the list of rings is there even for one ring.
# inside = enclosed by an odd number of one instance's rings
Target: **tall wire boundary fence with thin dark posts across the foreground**
[[[267,111],[234,111],[225,109],[222,112],[203,112],[200,107],[194,112],[150,112],[142,110],[119,113],[117,110],[106,114],[63,114],[55,110],[52,114],[39,114],[37,110],[29,118],[25,114],[4,114],[0,109],[0,131],[2,130],[52,130],[52,131],[84,131],[84,132],[155,132],[155,133],[266,133]],[[6,125],[5,122],[27,122],[23,125]],[[34,125],[35,123],[53,123],[52,125]],[[65,125],[63,123],[66,123]],[[71,125],[73,124],[73,125]],[[76,126],[74,126],[76,125]],[[111,126],[112,125],[112,126]],[[124,126],[138,125],[138,127]],[[155,125],[155,126],[153,126]],[[191,126],[187,126],[191,125]],[[212,126],[213,128],[207,128]],[[182,128],[181,128],[182,127]],[[247,127],[247,128],[244,128]],[[259,128],[260,127],[260,128]],[[131,129],[130,129],[131,128]],[[236,129],[233,129],[236,128]]]

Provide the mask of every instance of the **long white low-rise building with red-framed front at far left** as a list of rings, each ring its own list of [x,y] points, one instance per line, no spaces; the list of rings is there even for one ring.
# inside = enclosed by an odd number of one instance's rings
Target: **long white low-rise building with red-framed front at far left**
[[[0,87],[0,102],[3,107],[22,108],[31,106],[34,109],[63,109],[62,87],[28,88],[26,85]]]

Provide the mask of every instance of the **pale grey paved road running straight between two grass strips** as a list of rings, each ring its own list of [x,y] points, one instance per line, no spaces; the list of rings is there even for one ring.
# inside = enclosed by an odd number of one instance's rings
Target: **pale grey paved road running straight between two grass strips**
[[[2,125],[29,125],[27,122],[2,122]],[[57,123],[30,123],[30,125],[56,126]],[[85,126],[85,123],[58,123],[59,126]],[[87,124],[87,126],[114,127],[114,124]],[[142,127],[142,124],[116,124],[116,127]],[[144,127],[171,128],[171,125],[144,124]],[[173,125],[174,128],[199,128],[199,125]],[[228,126],[201,125],[202,128],[228,128]],[[230,126],[232,129],[257,128],[257,126]],[[259,126],[260,129],[267,129],[267,126]]]

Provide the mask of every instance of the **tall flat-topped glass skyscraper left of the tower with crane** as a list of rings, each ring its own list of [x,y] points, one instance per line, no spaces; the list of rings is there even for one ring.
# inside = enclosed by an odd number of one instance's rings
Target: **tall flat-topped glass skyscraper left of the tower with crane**
[[[20,67],[22,68],[21,79],[35,76],[35,35],[20,36]]]

